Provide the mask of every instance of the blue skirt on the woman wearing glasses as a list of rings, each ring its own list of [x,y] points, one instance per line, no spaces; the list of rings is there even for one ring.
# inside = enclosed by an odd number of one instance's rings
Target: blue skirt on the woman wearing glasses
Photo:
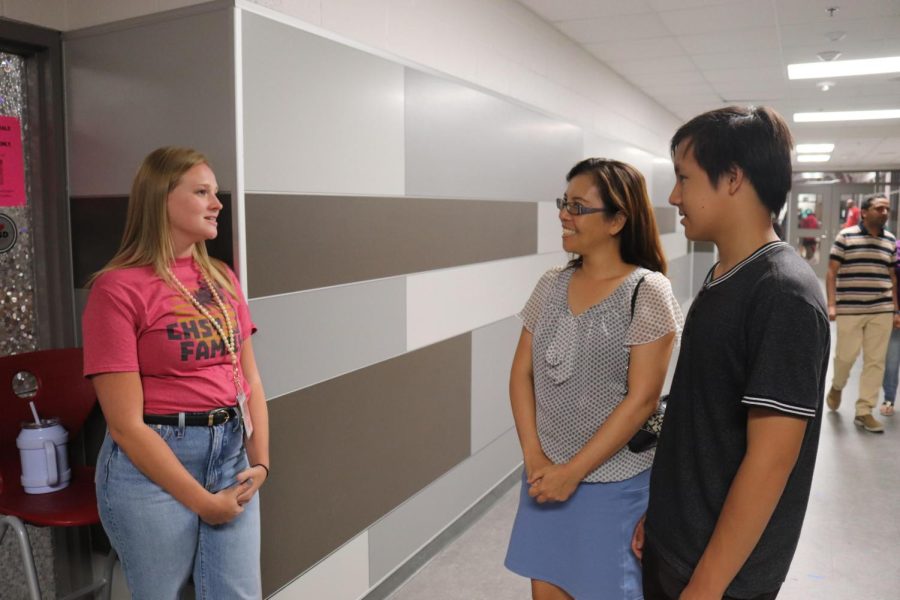
[[[506,568],[576,600],[641,600],[631,537],[647,510],[650,469],[614,483],[581,483],[566,501],[538,504],[522,475]]]

